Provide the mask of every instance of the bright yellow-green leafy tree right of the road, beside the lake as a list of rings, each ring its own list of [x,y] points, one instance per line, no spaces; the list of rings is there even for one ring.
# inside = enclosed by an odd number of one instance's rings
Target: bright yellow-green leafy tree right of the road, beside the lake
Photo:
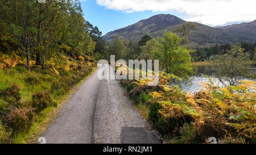
[[[170,31],[164,33],[163,37],[158,37],[157,41],[148,41],[147,44],[156,44],[155,48],[151,47],[152,55],[159,60],[160,68],[167,74],[187,78],[189,74],[193,74],[189,55],[193,51],[180,45],[180,41],[181,38]]]

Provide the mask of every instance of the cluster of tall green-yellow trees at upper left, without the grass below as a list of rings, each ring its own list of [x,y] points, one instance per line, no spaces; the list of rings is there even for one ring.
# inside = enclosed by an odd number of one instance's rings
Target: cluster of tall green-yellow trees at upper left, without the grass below
[[[95,43],[78,0],[0,0],[0,7],[1,52],[22,51],[28,68],[31,59],[44,66],[53,53],[64,52],[74,58],[93,55]],[[94,33],[101,35],[97,27]]]

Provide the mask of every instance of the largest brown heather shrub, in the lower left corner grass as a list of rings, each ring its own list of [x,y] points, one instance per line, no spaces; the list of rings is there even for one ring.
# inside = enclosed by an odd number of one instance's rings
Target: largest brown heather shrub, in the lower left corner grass
[[[31,126],[34,115],[34,108],[16,108],[6,116],[5,123],[14,133],[24,132]]]

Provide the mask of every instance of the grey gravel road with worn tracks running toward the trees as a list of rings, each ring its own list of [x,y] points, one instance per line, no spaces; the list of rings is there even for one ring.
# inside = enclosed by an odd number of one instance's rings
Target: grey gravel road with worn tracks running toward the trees
[[[41,137],[47,144],[159,143],[144,129],[148,124],[123,95],[118,81],[98,79],[100,69],[73,94]]]

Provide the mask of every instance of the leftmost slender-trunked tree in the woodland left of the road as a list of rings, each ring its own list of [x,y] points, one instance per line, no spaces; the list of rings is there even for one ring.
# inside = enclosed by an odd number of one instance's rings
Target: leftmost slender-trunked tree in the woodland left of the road
[[[10,7],[10,10],[7,10],[6,13],[14,15],[14,18],[7,22],[10,26],[10,33],[14,35],[19,47],[26,53],[27,68],[30,68],[30,55],[35,47],[35,34],[38,31],[34,22],[36,19],[33,15],[36,2],[11,1],[5,3],[5,5]]]

